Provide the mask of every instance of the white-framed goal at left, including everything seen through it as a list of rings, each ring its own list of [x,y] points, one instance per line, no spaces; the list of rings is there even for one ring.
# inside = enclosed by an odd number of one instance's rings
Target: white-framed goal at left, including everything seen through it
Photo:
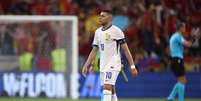
[[[77,99],[77,23],[75,16],[0,16],[1,96]]]

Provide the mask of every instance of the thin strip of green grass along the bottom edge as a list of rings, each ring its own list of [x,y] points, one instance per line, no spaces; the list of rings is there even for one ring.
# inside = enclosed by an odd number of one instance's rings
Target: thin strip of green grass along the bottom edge
[[[72,99],[46,99],[46,98],[0,98],[0,101],[74,101]],[[80,99],[76,101],[100,101],[98,99]],[[162,99],[119,99],[119,101],[166,101],[165,98]],[[200,99],[186,99],[185,101],[201,101]]]

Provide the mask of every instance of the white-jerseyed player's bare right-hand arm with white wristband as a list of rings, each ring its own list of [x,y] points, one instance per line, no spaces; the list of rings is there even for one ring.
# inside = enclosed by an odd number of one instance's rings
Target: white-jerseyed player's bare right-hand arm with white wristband
[[[125,43],[121,44],[121,48],[123,49],[124,54],[125,54],[125,56],[126,56],[128,62],[129,62],[129,64],[130,64],[130,68],[131,68],[131,73],[132,73],[132,75],[137,76],[137,75],[138,75],[138,71],[137,71],[137,69],[135,68],[135,64],[134,64],[134,61],[133,61],[133,57],[132,57],[132,55],[131,55],[131,53],[130,53],[130,50],[129,50],[129,48],[128,48],[127,43],[125,42]]]

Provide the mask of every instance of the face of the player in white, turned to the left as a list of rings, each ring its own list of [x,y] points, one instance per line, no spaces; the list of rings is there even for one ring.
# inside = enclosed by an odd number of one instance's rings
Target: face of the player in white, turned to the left
[[[107,24],[109,21],[111,21],[111,15],[107,12],[101,12],[99,16],[99,21],[101,25]]]

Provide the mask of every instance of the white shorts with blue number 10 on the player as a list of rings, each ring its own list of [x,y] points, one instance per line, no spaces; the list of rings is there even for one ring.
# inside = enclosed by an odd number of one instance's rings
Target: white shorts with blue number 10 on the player
[[[100,82],[103,86],[104,84],[115,85],[119,71],[106,71],[100,72]]]

